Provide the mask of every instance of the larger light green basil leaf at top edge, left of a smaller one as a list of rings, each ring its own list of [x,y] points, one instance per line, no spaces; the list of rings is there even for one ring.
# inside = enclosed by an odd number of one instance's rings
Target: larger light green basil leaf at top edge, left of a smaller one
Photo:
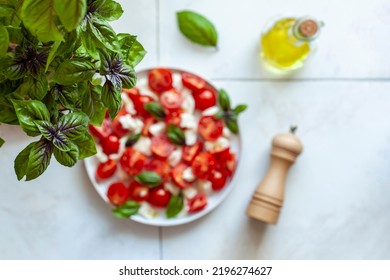
[[[24,0],[22,19],[27,29],[40,41],[64,40],[55,23],[53,0]]]

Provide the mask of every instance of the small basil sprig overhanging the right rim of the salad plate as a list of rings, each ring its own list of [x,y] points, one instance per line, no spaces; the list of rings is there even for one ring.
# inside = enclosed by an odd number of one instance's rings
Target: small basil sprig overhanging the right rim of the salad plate
[[[220,89],[218,92],[218,104],[221,110],[219,110],[214,117],[216,119],[222,119],[232,133],[238,134],[238,116],[244,112],[248,106],[239,104],[232,109],[229,95],[224,89]]]

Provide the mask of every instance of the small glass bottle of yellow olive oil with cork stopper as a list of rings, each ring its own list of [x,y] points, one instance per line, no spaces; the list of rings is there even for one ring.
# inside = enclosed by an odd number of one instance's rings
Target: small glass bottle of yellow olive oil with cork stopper
[[[311,42],[317,38],[320,24],[307,18],[276,20],[261,37],[261,57],[277,72],[301,68],[310,52]]]

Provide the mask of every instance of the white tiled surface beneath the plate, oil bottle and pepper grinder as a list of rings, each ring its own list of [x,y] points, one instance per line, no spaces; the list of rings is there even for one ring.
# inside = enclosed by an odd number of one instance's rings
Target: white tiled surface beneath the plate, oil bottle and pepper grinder
[[[159,229],[111,217],[82,163],[17,182],[12,162],[27,139],[0,127],[0,259],[390,259],[390,2],[121,0],[117,31],[148,50],[138,69],[189,69],[250,105],[231,195],[211,214]],[[175,12],[208,16],[220,50],[187,42]],[[134,12],[135,11],[135,12]],[[281,80],[264,72],[258,40],[275,14],[325,21],[306,67]],[[305,150],[288,178],[277,226],[245,216],[272,136],[298,124]]]

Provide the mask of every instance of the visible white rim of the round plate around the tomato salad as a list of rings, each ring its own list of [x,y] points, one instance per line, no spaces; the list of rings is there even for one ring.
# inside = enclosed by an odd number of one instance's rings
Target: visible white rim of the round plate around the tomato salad
[[[183,72],[182,70],[178,70],[178,69],[170,69],[170,70],[172,71],[173,74],[181,74]],[[145,79],[147,78],[147,74],[149,71],[150,71],[150,69],[138,72],[137,86],[139,84],[143,84],[142,87],[145,86]],[[188,72],[188,71],[186,71],[186,72]],[[188,73],[190,73],[190,72],[188,72]],[[209,84],[209,86],[213,87],[211,84]],[[241,141],[240,141],[239,136],[233,135],[230,138],[231,150],[236,154],[236,158],[237,158],[236,170],[238,167],[238,163],[240,162],[240,160],[239,160],[240,159],[240,144],[241,144]],[[118,175],[116,174],[112,178],[104,180],[104,181],[98,181],[96,179],[96,175],[95,175],[97,165],[99,164],[97,157],[93,156],[93,157],[87,158],[84,160],[84,163],[85,163],[85,168],[86,168],[88,177],[91,180],[92,185],[95,187],[96,191],[99,193],[101,198],[107,204],[111,205],[107,199],[106,192],[107,192],[108,186],[111,183],[113,183],[115,181],[119,181]],[[184,213],[185,211],[182,211],[182,213],[179,214],[177,217],[168,219],[165,217],[164,212],[160,211],[159,212],[160,215],[156,218],[153,218],[153,219],[152,218],[145,218],[139,214],[136,214],[136,215],[130,217],[130,219],[133,221],[142,223],[142,224],[147,224],[147,225],[152,225],[152,226],[177,226],[177,225],[186,224],[186,223],[192,222],[194,220],[197,220],[197,219],[203,217],[204,215],[206,215],[207,213],[209,213],[210,211],[212,211],[215,207],[217,207],[227,197],[227,195],[230,193],[230,191],[233,188],[234,177],[235,176],[233,175],[232,180],[230,182],[228,182],[227,185],[221,191],[218,191],[218,192],[213,191],[210,194],[208,194],[207,195],[208,204],[207,204],[206,208],[198,213],[187,214],[187,213]]]

